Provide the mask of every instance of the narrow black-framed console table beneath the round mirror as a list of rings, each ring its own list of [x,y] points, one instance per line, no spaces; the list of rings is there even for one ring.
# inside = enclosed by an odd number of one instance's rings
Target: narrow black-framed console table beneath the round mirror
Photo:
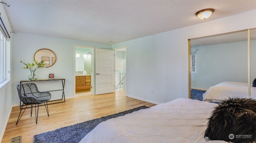
[[[43,81],[56,81],[56,80],[61,80],[62,81],[62,89],[57,89],[57,90],[50,90],[48,92],[54,92],[54,91],[62,91],[62,98],[58,99],[58,100],[51,100],[48,101],[48,104],[54,104],[54,103],[60,103],[60,102],[65,102],[65,94],[64,94],[64,86],[65,86],[65,78],[54,78],[54,79],[37,79],[34,81],[31,80],[20,80],[20,84],[22,84],[22,82],[43,82]],[[63,101],[64,99],[64,101]],[[61,100],[61,101],[60,101]],[[59,101],[59,102],[54,102],[53,101]],[[49,103],[50,102],[50,103]],[[52,103],[51,103],[52,102]],[[21,101],[20,101],[20,108],[21,108]]]

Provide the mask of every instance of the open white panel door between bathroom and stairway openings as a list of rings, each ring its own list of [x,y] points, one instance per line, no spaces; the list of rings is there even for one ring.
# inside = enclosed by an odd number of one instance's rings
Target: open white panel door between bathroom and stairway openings
[[[114,92],[114,50],[95,49],[95,94]]]

